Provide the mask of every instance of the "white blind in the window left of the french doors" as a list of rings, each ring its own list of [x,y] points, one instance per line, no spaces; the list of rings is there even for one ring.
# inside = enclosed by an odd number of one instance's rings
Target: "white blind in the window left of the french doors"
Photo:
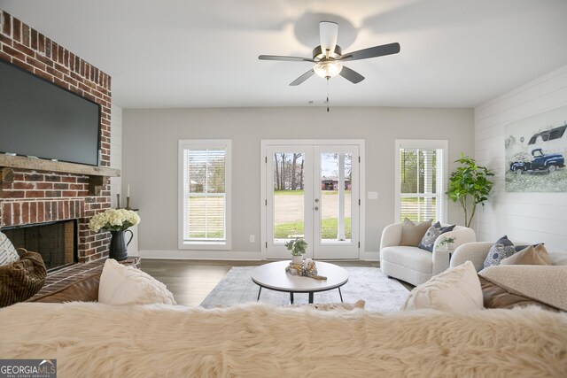
[[[226,240],[225,148],[183,150],[183,240]]]

